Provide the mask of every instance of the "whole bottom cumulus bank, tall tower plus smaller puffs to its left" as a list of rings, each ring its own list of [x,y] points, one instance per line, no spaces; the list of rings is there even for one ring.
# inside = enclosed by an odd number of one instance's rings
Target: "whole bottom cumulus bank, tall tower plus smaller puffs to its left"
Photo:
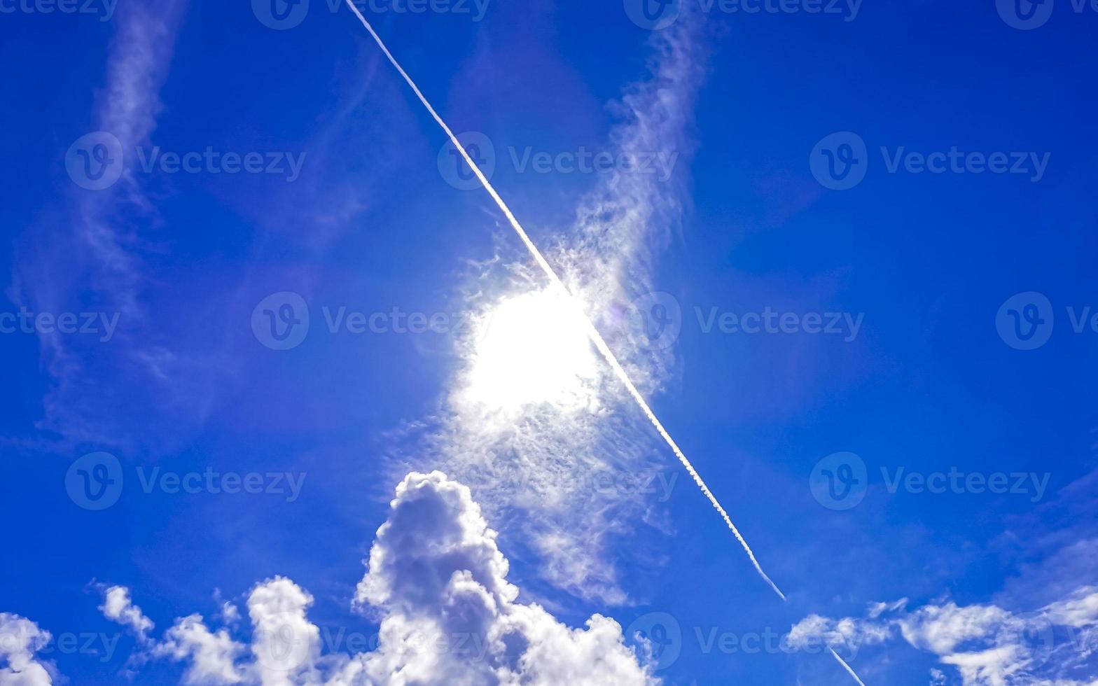
[[[594,615],[573,629],[518,600],[496,532],[464,485],[440,472],[412,473],[391,508],[354,598],[380,620],[374,650],[325,653],[309,619],[313,597],[274,577],[248,595],[250,644],[191,615],[150,654],[182,664],[182,683],[195,686],[659,684],[613,619]],[[111,597],[114,614],[132,620],[128,593]]]

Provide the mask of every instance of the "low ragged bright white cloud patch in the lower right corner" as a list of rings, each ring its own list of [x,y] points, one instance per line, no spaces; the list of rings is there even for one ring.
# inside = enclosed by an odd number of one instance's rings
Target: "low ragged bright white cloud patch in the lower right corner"
[[[813,615],[791,631],[804,648],[822,641],[856,653],[862,645],[901,637],[952,667],[963,686],[1093,686],[1098,683],[1098,587],[1082,586],[1037,611],[948,601],[905,611],[907,601],[877,604],[865,618]],[[934,684],[946,672],[931,673]]]

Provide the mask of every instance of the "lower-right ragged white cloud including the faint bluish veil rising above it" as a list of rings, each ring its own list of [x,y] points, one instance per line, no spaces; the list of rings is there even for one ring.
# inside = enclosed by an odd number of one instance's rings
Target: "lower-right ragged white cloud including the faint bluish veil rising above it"
[[[986,603],[939,598],[908,609],[907,599],[879,603],[862,617],[813,615],[791,644],[822,641],[856,655],[870,645],[897,645],[933,655],[935,684],[963,686],[1091,686],[1098,683],[1098,546],[1093,484],[1087,474],[1034,514],[1010,522],[995,546],[1012,542],[1021,562],[1004,591]],[[1050,522],[1062,522],[1050,529]],[[1035,556],[1040,564],[1026,560]],[[887,674],[887,666],[882,666]],[[959,681],[957,681],[959,679]]]

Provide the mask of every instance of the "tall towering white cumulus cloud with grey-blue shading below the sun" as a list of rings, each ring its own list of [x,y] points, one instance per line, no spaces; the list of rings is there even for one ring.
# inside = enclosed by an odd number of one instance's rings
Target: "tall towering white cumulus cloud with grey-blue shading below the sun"
[[[366,661],[370,676],[405,683],[412,670],[410,681],[424,684],[654,683],[617,622],[596,615],[586,629],[569,629],[518,603],[507,569],[469,488],[439,472],[410,474],[356,595],[384,615],[381,644]]]

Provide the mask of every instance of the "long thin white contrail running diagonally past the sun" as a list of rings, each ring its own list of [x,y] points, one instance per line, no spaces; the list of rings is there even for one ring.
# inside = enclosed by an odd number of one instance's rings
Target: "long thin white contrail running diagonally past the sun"
[[[568,290],[568,286],[565,286],[564,282],[560,280],[560,277],[557,275],[557,272],[553,271],[553,268],[549,265],[549,262],[546,261],[546,258],[542,257],[541,251],[538,250],[538,247],[534,245],[533,240],[530,240],[530,237],[526,234],[526,230],[523,228],[523,225],[518,223],[517,218],[515,218],[515,215],[511,212],[511,209],[507,206],[507,203],[505,203],[503,201],[503,198],[500,198],[500,194],[495,192],[495,189],[489,182],[484,173],[480,170],[480,167],[477,166],[477,162],[473,161],[473,158],[469,156],[469,153],[466,150],[464,146],[461,145],[461,143],[458,140],[458,137],[453,135],[453,132],[450,131],[450,127],[447,126],[446,122],[442,121],[442,117],[439,116],[438,112],[435,111],[435,108],[433,108],[430,102],[427,101],[427,98],[419,90],[419,87],[415,85],[415,81],[412,80],[412,77],[408,76],[407,71],[405,71],[404,68],[401,67],[400,63],[396,61],[396,58],[393,57],[393,54],[389,52],[389,48],[385,46],[384,41],[381,40],[381,36],[378,35],[378,32],[373,30],[373,26],[370,25],[370,22],[366,21],[366,18],[362,16],[362,13],[358,11],[358,8],[355,7],[355,2],[352,0],[347,0],[347,5],[351,9],[352,12],[355,12],[355,15],[358,16],[358,20],[360,22],[362,22],[362,25],[366,26],[366,30],[370,32],[370,35],[373,36],[373,40],[378,44],[378,47],[380,47],[381,52],[385,54],[385,57],[389,58],[389,61],[393,64],[393,67],[395,67],[396,70],[400,72],[400,75],[404,77],[404,80],[407,81],[407,85],[412,87],[412,90],[419,99],[419,102],[423,103],[423,106],[427,108],[427,112],[429,112],[430,115],[438,123],[438,125],[442,127],[442,131],[445,131],[446,135],[449,136],[450,143],[452,143],[453,146],[458,149],[458,151],[461,153],[461,157],[464,158],[466,164],[469,165],[469,168],[472,169],[473,173],[477,175],[477,178],[480,179],[480,182],[484,185],[484,190],[486,190],[489,195],[492,196],[492,200],[495,201],[495,204],[500,206],[500,210],[503,212],[504,216],[506,216],[507,221],[511,223],[512,228],[514,228],[515,233],[518,234],[518,237],[523,239],[523,243],[530,251],[530,255],[534,256],[534,259],[537,261],[538,266],[541,267],[541,271],[546,273],[546,275],[549,278],[549,281],[552,282],[553,285],[560,288],[565,294],[569,295],[569,300],[573,304],[575,304],[576,310],[581,310],[574,296],[572,296],[571,292]],[[682,462],[684,468],[686,468],[686,471],[690,473],[691,477],[694,479],[694,483],[697,484],[697,487],[702,490],[702,493],[705,494],[705,497],[709,498],[709,503],[712,503],[713,507],[717,510],[717,513],[720,514],[721,519],[725,520],[725,524],[728,525],[728,528],[736,536],[736,540],[740,542],[740,546],[742,546],[743,550],[748,553],[748,558],[751,559],[751,564],[754,565],[754,569],[757,572],[759,572],[759,575],[762,576],[763,581],[765,581],[770,585],[770,587],[774,589],[774,593],[776,593],[778,597],[785,600],[786,599],[785,594],[782,593],[782,589],[778,588],[777,585],[771,581],[770,576],[768,576],[766,573],[762,571],[762,565],[759,564],[759,560],[755,559],[754,552],[751,550],[751,547],[748,546],[747,540],[744,540],[743,536],[740,535],[740,530],[736,528],[735,524],[732,524],[731,517],[728,516],[728,513],[725,511],[725,508],[720,505],[720,502],[718,502],[716,496],[713,495],[713,492],[709,491],[709,486],[705,485],[705,482],[702,481],[702,476],[697,473],[697,470],[694,469],[694,465],[686,458],[685,453],[683,453],[683,451],[679,449],[679,445],[675,443],[673,438],[671,438],[671,435],[668,434],[668,430],[663,428],[663,424],[661,424],[659,418],[657,418],[656,413],[652,412],[652,408],[648,406],[648,403],[645,401],[645,397],[640,394],[640,391],[637,390],[637,386],[634,385],[632,380],[629,379],[629,374],[627,374],[625,369],[621,368],[621,364],[617,361],[617,358],[614,356],[614,352],[610,351],[609,346],[607,346],[606,341],[603,340],[603,337],[598,333],[598,329],[595,328],[595,325],[591,323],[591,319],[586,316],[585,313],[581,311],[580,315],[581,319],[583,320],[584,328],[587,331],[587,337],[591,338],[591,341],[595,344],[596,348],[598,348],[598,352],[601,352],[603,358],[606,359],[606,362],[614,370],[614,374],[617,375],[618,380],[620,380],[623,384],[625,384],[625,387],[629,391],[629,395],[631,395],[632,400],[637,402],[637,405],[639,405],[640,409],[643,411],[645,415],[648,417],[648,420],[652,423],[652,426],[654,426],[656,430],[659,431],[660,436],[663,437],[663,440],[671,448],[671,451],[675,453],[675,457],[679,458],[679,461]]]

